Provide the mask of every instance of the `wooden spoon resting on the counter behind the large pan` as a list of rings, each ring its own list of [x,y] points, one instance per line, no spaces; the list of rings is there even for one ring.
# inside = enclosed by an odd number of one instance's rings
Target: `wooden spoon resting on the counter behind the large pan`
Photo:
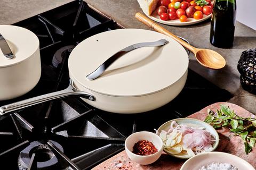
[[[195,48],[189,44],[187,44],[182,39],[173,35],[170,31],[158,25],[156,22],[149,19],[147,16],[137,13],[135,17],[142,23],[145,23],[150,28],[154,29],[157,32],[161,32],[166,36],[173,38],[178,41],[183,47],[186,47],[191,52],[195,54],[196,60],[203,66],[208,67],[210,69],[221,69],[226,65],[225,59],[217,52],[211,49],[203,49],[203,48]]]

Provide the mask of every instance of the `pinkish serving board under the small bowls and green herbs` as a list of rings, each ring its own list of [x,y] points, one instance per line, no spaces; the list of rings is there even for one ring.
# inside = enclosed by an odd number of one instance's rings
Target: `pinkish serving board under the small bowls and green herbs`
[[[196,112],[188,117],[197,118],[198,120],[204,120],[207,116],[207,109],[210,108],[212,111],[220,109],[220,105],[229,106],[232,110],[236,112],[238,116],[241,117],[255,117],[249,111],[246,111],[244,108],[237,106],[231,103],[215,103],[210,106],[203,108],[201,111]],[[166,120],[168,121],[168,120]],[[240,137],[234,136],[234,133],[231,133],[227,128],[222,128],[217,130],[220,137],[219,146],[215,151],[227,152],[229,154],[236,155],[243,158],[249,162],[254,168],[256,168],[256,149],[251,151],[248,155],[244,151],[244,142]],[[151,170],[151,169],[172,169],[178,170],[186,160],[178,159],[171,157],[163,152],[162,156],[153,164],[150,165],[139,165],[132,160],[130,160],[125,150],[119,154],[109,158],[105,162],[93,168],[93,170],[116,170],[116,169],[138,169],[138,170]]]

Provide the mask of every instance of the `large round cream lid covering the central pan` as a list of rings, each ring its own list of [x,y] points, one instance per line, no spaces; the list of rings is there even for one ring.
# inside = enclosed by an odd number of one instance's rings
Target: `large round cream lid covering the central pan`
[[[136,43],[166,39],[161,47],[142,47],[124,54],[97,79],[86,75],[119,50]],[[188,55],[177,41],[155,31],[118,29],[102,32],[78,44],[68,60],[75,83],[104,95],[134,97],[172,86],[188,69]]]

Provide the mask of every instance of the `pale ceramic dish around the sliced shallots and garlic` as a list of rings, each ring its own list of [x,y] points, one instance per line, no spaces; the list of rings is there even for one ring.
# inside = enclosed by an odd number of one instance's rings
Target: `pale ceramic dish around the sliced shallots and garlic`
[[[174,120],[171,120],[171,121],[168,121],[166,123],[164,123],[163,125],[161,125],[159,128],[158,128],[158,132],[161,132],[162,130],[165,130],[165,131],[168,131],[169,128],[170,128],[170,125],[172,123],[172,121],[176,121],[178,124],[185,124],[187,126],[190,126],[190,127],[204,127],[205,130],[207,130],[208,132],[210,132],[212,135],[215,136],[215,139],[216,141],[213,143],[213,148],[211,151],[215,150],[218,145],[219,145],[219,134],[218,132],[212,128],[211,125],[203,122],[203,121],[200,121],[200,120],[197,120],[195,118],[176,118]],[[177,155],[174,155],[174,154],[171,154],[167,149],[163,149],[164,152],[166,152],[166,154],[169,154],[173,157],[176,157],[176,158],[180,158],[180,159],[188,159],[190,158],[191,156],[189,156],[188,154],[177,154]]]

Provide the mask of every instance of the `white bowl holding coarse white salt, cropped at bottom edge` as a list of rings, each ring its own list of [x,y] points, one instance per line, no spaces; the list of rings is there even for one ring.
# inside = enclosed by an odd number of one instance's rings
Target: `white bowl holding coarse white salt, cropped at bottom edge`
[[[232,155],[227,154],[225,152],[205,152],[202,154],[198,154],[190,159],[188,159],[182,166],[180,170],[198,170],[204,165],[209,165],[211,163],[228,163],[239,170],[255,170],[251,164],[246,162],[244,159]]]

